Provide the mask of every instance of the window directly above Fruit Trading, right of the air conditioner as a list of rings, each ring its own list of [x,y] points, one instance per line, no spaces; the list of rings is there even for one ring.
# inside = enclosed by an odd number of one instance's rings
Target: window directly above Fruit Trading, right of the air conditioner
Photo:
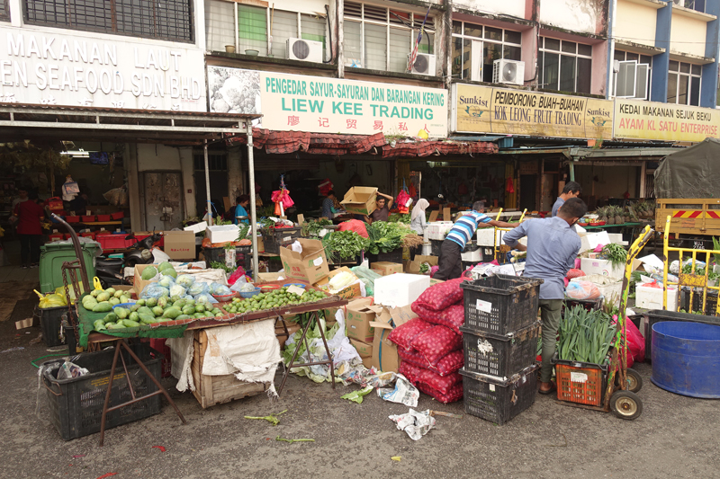
[[[540,38],[541,87],[590,93],[592,47],[568,40]]]

